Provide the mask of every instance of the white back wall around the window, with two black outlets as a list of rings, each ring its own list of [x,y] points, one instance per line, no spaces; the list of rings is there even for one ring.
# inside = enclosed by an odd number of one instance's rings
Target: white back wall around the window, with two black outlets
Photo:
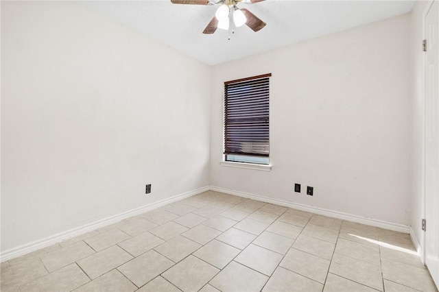
[[[214,66],[211,185],[408,225],[409,45],[405,14]],[[220,166],[223,82],[263,73],[272,171]]]

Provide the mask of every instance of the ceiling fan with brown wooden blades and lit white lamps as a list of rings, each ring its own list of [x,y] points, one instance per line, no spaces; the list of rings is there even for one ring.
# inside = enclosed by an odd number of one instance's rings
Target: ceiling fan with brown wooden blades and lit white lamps
[[[203,34],[213,34],[217,28],[228,30],[231,26],[240,27],[246,24],[254,32],[263,29],[267,23],[261,21],[257,16],[252,14],[246,8],[239,9],[237,4],[257,3],[264,0],[171,0],[174,4],[193,4],[193,5],[219,5],[215,16],[206,26]],[[229,37],[230,39],[230,37]]]

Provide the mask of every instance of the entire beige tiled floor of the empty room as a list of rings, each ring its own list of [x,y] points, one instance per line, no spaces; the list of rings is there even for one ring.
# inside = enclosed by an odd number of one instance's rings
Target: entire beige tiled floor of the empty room
[[[1,263],[1,291],[437,291],[408,234],[208,191]]]

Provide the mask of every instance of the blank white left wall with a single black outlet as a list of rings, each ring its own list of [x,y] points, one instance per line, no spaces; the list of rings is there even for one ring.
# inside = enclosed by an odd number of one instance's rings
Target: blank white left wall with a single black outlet
[[[210,81],[78,4],[2,1],[2,252],[209,185]]]

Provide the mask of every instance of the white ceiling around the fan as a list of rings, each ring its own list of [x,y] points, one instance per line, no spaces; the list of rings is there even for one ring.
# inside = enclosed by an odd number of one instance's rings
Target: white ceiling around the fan
[[[218,6],[178,5],[170,0],[84,1],[86,8],[214,65],[410,12],[415,1],[292,1],[239,3],[267,25],[253,32],[244,25],[202,34]]]

